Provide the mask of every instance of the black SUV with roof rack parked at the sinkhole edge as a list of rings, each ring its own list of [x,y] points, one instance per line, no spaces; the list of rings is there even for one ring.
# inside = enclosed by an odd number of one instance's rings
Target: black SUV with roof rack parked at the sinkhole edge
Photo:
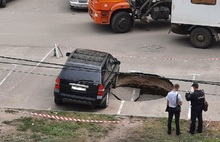
[[[65,66],[56,79],[54,102],[61,105],[63,99],[70,99],[106,108],[110,89],[116,86],[120,61],[109,53],[88,49],[76,49],[66,56]]]

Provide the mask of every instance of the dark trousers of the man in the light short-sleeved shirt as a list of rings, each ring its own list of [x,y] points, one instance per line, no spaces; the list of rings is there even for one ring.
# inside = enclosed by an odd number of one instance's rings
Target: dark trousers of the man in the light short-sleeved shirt
[[[173,115],[175,115],[176,134],[180,134],[180,126],[179,126],[180,111],[175,111],[175,108],[169,107],[168,115],[169,115],[168,116],[168,134],[171,134],[171,123],[172,123]]]

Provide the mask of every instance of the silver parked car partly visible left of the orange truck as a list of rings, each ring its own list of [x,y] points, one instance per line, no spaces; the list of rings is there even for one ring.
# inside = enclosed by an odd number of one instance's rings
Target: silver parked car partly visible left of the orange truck
[[[87,9],[89,0],[70,0],[71,9]]]

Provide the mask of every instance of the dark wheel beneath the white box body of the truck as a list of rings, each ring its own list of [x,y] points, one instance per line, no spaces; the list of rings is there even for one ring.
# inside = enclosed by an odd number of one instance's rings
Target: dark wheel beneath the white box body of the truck
[[[190,42],[196,48],[208,48],[213,42],[213,36],[207,28],[195,28],[190,33]]]

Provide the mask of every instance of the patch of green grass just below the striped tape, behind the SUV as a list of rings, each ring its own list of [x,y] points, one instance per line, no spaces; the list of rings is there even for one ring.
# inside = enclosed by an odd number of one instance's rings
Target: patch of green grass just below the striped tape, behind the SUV
[[[77,140],[85,137],[85,133],[100,138],[105,136],[110,130],[109,125],[101,126],[101,124],[97,123],[34,119],[31,117],[22,117],[13,121],[5,121],[4,123],[16,126],[18,131],[31,131],[30,139],[33,141],[48,141],[48,137],[55,137],[62,141],[66,139]],[[81,132],[82,129],[85,132]]]

